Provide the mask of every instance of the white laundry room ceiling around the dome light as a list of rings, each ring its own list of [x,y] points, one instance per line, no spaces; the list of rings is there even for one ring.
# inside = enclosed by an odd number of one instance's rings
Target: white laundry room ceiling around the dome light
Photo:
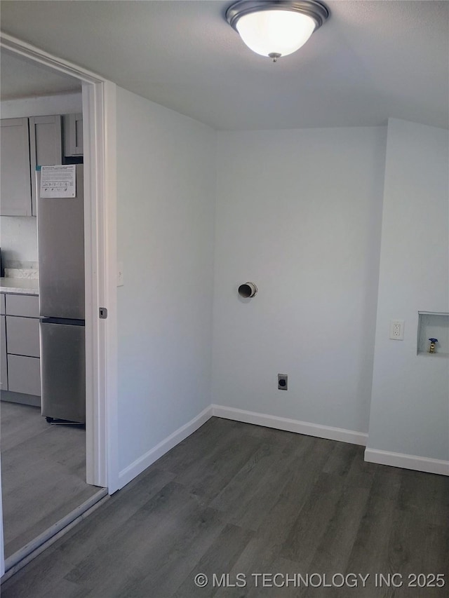
[[[448,127],[448,1],[328,1],[276,64],[229,27],[229,4],[2,0],[1,29],[217,129]]]

